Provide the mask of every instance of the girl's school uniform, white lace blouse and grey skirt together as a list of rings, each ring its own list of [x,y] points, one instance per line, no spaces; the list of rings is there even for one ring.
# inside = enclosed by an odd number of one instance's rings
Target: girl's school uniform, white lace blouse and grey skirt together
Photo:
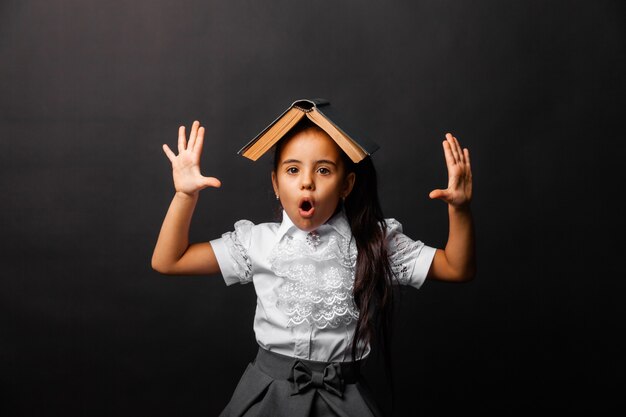
[[[436,249],[386,219],[392,270],[419,288]],[[259,350],[220,417],[379,417],[360,374],[370,346],[351,344],[359,317],[352,297],[357,248],[345,212],[313,232],[282,223],[235,223],[211,241],[227,285],[252,282]]]

